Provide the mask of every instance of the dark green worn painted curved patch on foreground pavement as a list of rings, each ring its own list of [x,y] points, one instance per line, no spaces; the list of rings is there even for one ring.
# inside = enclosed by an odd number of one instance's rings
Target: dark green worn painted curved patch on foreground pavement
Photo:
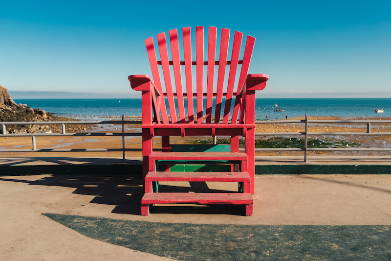
[[[182,261],[391,260],[390,225],[210,225],[44,215],[87,237]]]

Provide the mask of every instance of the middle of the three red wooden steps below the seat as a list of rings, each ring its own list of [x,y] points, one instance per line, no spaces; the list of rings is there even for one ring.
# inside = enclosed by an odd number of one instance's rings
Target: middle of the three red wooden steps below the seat
[[[145,181],[250,182],[248,172],[168,172],[150,171]]]

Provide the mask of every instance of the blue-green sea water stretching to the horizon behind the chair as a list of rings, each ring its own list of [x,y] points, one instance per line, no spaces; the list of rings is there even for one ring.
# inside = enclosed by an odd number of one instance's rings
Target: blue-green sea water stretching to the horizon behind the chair
[[[141,116],[141,99],[15,99],[57,116],[84,120]],[[204,106],[206,102],[204,101]],[[278,105],[275,107],[275,105]],[[375,113],[375,109],[385,109]],[[275,112],[275,109],[284,110]],[[213,112],[215,109],[213,108]],[[342,118],[391,117],[391,98],[257,98],[256,119],[308,116]]]

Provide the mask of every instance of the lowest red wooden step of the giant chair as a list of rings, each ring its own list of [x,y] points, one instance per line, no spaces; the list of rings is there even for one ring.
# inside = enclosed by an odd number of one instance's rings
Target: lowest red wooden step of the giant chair
[[[253,198],[247,193],[145,193],[142,204],[199,203],[248,205]]]

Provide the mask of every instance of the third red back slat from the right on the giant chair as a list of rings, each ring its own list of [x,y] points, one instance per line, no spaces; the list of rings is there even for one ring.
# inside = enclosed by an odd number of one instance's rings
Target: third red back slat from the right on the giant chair
[[[220,41],[220,56],[217,74],[217,90],[216,90],[216,105],[215,105],[215,123],[220,122],[221,103],[223,100],[223,88],[225,69],[227,68],[227,56],[229,45],[229,29],[221,29],[221,41]]]

